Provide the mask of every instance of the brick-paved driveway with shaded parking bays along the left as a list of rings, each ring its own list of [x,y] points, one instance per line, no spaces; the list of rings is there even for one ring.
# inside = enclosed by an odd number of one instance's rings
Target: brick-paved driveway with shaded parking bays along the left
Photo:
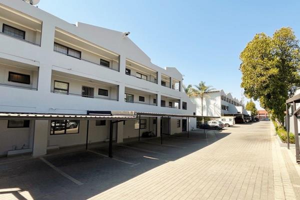
[[[43,158],[0,159],[0,199],[300,199],[270,122]],[[297,166],[296,166],[297,167]]]

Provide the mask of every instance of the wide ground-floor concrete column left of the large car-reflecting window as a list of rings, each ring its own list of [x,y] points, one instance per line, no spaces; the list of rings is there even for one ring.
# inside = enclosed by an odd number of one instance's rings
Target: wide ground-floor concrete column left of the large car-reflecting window
[[[35,120],[32,156],[47,153],[48,120]]]

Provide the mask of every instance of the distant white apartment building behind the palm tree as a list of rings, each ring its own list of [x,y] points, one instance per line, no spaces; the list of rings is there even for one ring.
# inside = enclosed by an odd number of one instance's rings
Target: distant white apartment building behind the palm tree
[[[196,104],[197,115],[250,115],[249,111],[244,109],[244,105],[241,100],[233,97],[231,93],[225,93],[222,89],[205,93],[203,98],[203,105],[202,100],[199,96],[191,96],[190,99],[193,103]]]

